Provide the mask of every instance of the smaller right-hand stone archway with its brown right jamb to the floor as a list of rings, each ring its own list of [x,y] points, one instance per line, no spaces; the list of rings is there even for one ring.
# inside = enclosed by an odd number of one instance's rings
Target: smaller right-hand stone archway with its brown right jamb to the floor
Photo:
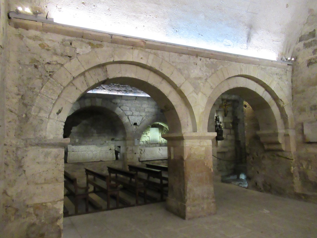
[[[207,107],[210,108],[209,124],[215,120],[212,105],[223,93],[237,95],[248,102],[258,121],[257,140],[246,148],[246,151],[249,151],[246,162],[249,163],[248,175],[251,188],[273,194],[292,191],[292,149],[294,148],[291,143],[294,142],[292,134],[294,129],[290,127],[292,115],[288,114],[287,107],[280,99],[283,98],[287,102],[282,91],[274,91],[263,81],[244,75],[223,79],[213,92],[215,93],[210,95],[207,102]],[[277,96],[276,93],[280,95]],[[207,115],[204,114],[205,116]],[[217,159],[214,159],[214,165],[216,164]],[[279,166],[276,166],[277,164]]]

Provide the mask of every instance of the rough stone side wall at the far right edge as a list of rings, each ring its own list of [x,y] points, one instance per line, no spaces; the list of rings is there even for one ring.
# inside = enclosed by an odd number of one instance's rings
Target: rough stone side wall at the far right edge
[[[304,24],[294,50],[293,105],[296,128],[297,158],[294,182],[297,195],[317,202],[317,145],[307,140],[304,124],[314,123],[311,133],[317,134],[317,15],[310,15]],[[311,141],[311,142],[310,142]]]

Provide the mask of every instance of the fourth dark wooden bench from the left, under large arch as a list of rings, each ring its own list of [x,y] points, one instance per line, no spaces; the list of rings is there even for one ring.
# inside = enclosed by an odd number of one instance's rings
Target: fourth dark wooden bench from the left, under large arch
[[[129,170],[136,172],[139,176],[139,173],[143,173],[146,175],[146,185],[148,187],[152,186],[154,188],[159,189],[161,194],[161,200],[163,200],[164,196],[164,188],[168,187],[168,182],[166,182],[162,176],[162,170],[158,169],[150,169],[142,166],[137,166],[133,164],[128,164]],[[142,178],[142,177],[141,177]]]

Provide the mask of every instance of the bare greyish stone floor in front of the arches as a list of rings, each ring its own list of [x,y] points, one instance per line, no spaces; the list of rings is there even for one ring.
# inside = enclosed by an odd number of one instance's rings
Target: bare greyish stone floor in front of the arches
[[[217,215],[183,220],[165,202],[64,218],[64,238],[314,238],[317,204],[215,183]]]

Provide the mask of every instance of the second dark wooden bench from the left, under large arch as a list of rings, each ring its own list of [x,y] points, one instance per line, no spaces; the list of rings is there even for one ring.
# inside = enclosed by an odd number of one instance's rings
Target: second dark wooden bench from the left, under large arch
[[[116,197],[116,207],[119,207],[119,184],[111,183],[109,180],[109,175],[98,173],[91,169],[85,168],[86,182],[93,185],[96,192],[96,188],[107,195],[107,209],[110,209],[110,196],[114,195]]]

